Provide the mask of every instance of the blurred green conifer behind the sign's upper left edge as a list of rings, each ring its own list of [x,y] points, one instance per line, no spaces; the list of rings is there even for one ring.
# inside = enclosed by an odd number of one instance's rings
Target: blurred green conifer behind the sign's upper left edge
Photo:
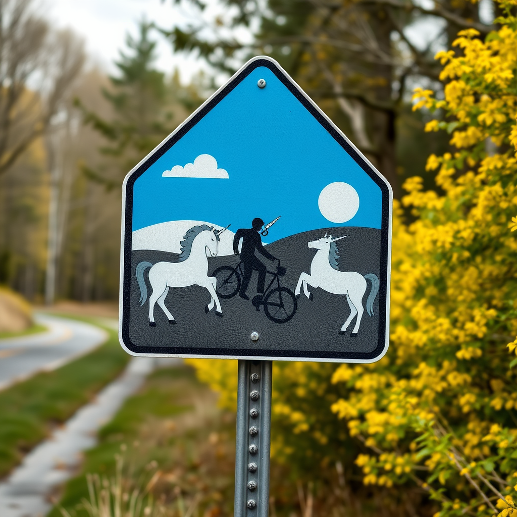
[[[110,188],[120,185],[133,166],[172,132],[181,120],[177,115],[186,115],[201,104],[195,85],[181,86],[177,73],[168,82],[154,68],[156,41],[150,39],[151,30],[150,24],[140,22],[139,38],[128,35],[128,51],[121,51],[115,62],[119,74],[110,77],[110,87],[103,89],[113,111],[111,120],[78,100],[85,123],[106,142],[100,149],[107,158],[104,165],[93,169],[85,164],[83,172]]]

